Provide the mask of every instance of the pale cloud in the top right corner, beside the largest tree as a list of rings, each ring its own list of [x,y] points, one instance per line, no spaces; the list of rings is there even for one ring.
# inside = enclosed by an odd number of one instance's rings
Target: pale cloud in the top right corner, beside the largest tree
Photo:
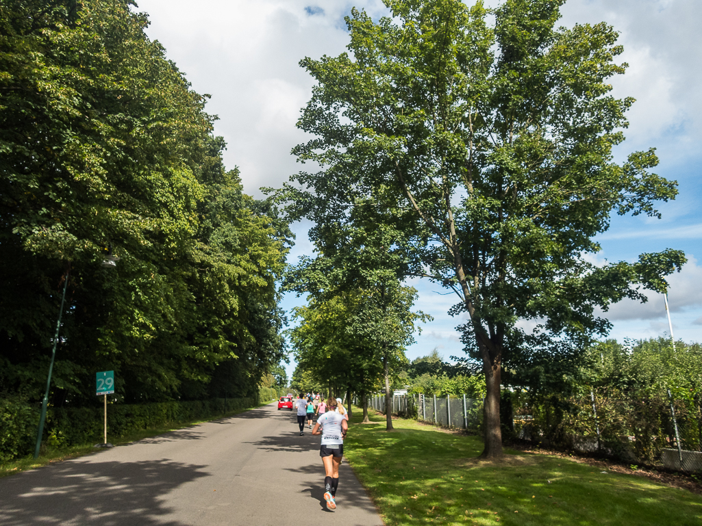
[[[698,0],[569,0],[562,23],[607,22],[621,33],[629,63],[612,82],[614,94],[637,99],[629,112],[625,149],[658,145],[677,161],[698,155],[702,137],[702,46]]]

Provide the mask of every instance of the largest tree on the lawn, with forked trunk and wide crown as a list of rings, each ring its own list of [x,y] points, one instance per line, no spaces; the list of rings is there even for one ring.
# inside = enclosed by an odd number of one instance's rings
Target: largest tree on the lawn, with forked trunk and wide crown
[[[371,196],[378,222],[404,231],[411,273],[456,292],[486,379],[486,457],[502,454],[505,362],[528,346],[585,346],[609,329],[596,306],[643,301],[637,284],[660,288],[684,262],[674,250],[588,259],[611,213],[658,217],[654,202],[676,189],[649,171],[653,149],[614,160],[634,102],[609,94],[622,48],[604,23],[557,28],[562,4],[387,0],[378,22],[352,10],[349,53],[300,62],[317,85],[298,126],[314,138],[294,152],[322,170],[280,198],[319,229]],[[537,334],[520,319],[541,321]]]

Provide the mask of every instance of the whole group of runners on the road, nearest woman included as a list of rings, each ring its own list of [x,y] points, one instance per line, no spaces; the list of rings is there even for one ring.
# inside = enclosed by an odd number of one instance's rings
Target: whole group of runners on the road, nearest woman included
[[[339,466],[344,456],[344,438],[348,431],[349,415],[341,398],[327,398],[319,393],[300,393],[293,407],[298,410],[300,436],[305,434],[305,420],[312,428],[314,414],[317,422],[312,429],[313,435],[322,435],[319,456],[324,464],[324,500],[330,510],[336,509],[336,490],[339,487]]]

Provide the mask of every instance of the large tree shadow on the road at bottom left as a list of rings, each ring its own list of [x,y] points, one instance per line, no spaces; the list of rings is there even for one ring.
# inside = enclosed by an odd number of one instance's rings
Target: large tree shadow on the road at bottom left
[[[66,461],[0,479],[0,524],[166,525],[160,498],[207,476],[206,466],[168,461]]]

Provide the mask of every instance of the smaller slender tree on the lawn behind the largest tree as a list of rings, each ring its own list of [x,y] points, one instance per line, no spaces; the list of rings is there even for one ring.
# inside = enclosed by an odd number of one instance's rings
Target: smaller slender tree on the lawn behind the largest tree
[[[378,221],[378,213],[378,203],[366,196],[353,203],[346,221],[318,221],[310,238],[319,256],[303,257],[289,271],[286,285],[310,293],[318,302],[343,297],[347,303],[346,331],[362,342],[358,363],[347,370],[358,373],[354,387],[362,394],[364,419],[365,397],[376,383],[367,374],[373,363],[382,364],[386,407],[392,407],[391,376],[406,363],[404,349],[413,342],[416,323],[430,319],[411,310],[416,290],[402,284],[408,268],[400,248],[404,234],[387,221]],[[385,210],[385,215],[393,213]],[[386,417],[387,429],[392,429],[390,411]]]

